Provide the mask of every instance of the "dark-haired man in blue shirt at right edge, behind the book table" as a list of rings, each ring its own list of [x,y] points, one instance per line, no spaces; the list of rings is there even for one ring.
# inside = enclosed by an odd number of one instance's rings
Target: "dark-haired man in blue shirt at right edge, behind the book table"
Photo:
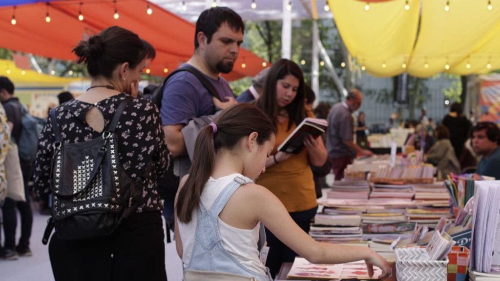
[[[476,173],[500,179],[500,129],[492,122],[479,122],[472,128],[472,148],[482,155]]]

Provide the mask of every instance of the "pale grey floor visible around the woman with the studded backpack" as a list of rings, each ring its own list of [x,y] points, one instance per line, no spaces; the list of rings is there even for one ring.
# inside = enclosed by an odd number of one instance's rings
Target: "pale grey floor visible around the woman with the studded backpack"
[[[17,260],[0,259],[1,281],[53,281],[50,260],[48,259],[48,248],[41,243],[41,236],[45,230],[48,216],[40,215],[33,210],[33,230],[31,234],[31,257],[19,257]],[[19,220],[17,222],[19,228]],[[2,241],[5,237],[2,233]],[[17,229],[17,238],[19,229]],[[182,263],[175,251],[174,242],[166,244],[165,241],[165,267],[169,281],[182,280]]]

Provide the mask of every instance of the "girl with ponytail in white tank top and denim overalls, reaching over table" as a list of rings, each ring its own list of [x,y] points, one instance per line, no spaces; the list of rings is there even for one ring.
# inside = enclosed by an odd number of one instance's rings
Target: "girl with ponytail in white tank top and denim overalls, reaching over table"
[[[276,196],[253,183],[266,170],[275,139],[270,120],[249,103],[224,109],[199,132],[175,199],[175,245],[184,280],[272,280],[259,259],[257,244],[265,241],[259,222],[310,262],[362,259],[370,275],[375,265],[387,276],[388,264],[373,250],[313,240]]]

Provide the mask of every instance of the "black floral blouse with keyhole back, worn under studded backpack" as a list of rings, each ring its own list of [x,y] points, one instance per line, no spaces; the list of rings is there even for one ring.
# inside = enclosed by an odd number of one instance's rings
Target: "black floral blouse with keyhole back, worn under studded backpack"
[[[103,99],[95,104],[76,99],[67,101],[56,107],[55,117],[64,143],[86,141],[96,138],[99,132],[93,130],[85,121],[87,111],[93,106],[102,112],[104,128],[113,117],[118,104],[125,99],[120,93]],[[143,204],[137,212],[143,210],[161,210],[162,201],[158,194],[156,178],[171,168],[171,155],[163,141],[158,108],[144,98],[132,99],[121,114],[115,133],[118,141],[118,155],[124,171],[130,179],[143,176]],[[50,191],[50,161],[55,142],[52,124],[47,121],[38,140],[38,152],[34,165],[34,191],[37,196]],[[153,161],[154,169],[145,175],[149,161]]]

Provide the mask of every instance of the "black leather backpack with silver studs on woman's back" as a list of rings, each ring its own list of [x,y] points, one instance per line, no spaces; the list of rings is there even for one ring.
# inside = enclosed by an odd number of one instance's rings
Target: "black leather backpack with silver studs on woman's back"
[[[122,169],[114,133],[131,99],[121,101],[99,137],[77,143],[62,142],[55,110],[50,112],[55,135],[50,173],[53,200],[44,244],[53,226],[61,239],[108,235],[138,206],[142,189]]]

